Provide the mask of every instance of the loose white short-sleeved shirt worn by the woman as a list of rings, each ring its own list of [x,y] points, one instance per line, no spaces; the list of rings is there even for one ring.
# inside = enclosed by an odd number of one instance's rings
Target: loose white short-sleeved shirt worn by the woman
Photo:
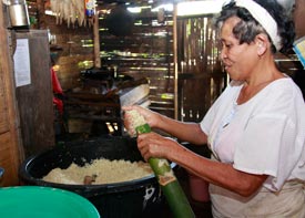
[[[270,175],[264,187],[273,191],[305,180],[305,104],[297,85],[279,79],[237,105],[242,86],[231,82],[201,122],[213,154],[238,170]]]

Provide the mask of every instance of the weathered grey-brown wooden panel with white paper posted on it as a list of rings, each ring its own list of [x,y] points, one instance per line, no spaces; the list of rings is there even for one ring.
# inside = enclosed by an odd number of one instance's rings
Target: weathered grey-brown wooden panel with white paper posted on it
[[[16,90],[22,143],[28,157],[54,145],[51,63],[45,30],[20,32],[17,39],[28,39],[30,49],[31,83]]]

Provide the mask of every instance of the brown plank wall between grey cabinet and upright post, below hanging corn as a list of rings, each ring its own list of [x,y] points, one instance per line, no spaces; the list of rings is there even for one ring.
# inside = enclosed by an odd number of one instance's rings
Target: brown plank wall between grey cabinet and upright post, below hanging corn
[[[93,66],[93,23],[85,27],[60,21],[44,13],[50,1],[29,0],[31,29],[49,30],[51,55],[54,58],[57,75],[64,91],[79,85],[80,72]]]

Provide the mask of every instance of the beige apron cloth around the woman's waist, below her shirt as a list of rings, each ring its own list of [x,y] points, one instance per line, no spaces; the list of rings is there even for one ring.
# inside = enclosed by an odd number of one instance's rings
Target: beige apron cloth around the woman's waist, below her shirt
[[[210,184],[210,195],[215,218],[305,218],[305,185],[302,181],[287,181],[277,193],[262,188],[248,198]]]

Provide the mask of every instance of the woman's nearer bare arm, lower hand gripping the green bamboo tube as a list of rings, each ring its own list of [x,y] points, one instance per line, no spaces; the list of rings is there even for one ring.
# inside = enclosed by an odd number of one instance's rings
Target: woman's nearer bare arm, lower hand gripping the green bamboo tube
[[[243,173],[234,169],[231,164],[202,157],[175,141],[164,138],[155,133],[140,135],[138,147],[146,160],[150,157],[170,159],[204,180],[241,196],[251,196],[267,178],[267,175]]]

